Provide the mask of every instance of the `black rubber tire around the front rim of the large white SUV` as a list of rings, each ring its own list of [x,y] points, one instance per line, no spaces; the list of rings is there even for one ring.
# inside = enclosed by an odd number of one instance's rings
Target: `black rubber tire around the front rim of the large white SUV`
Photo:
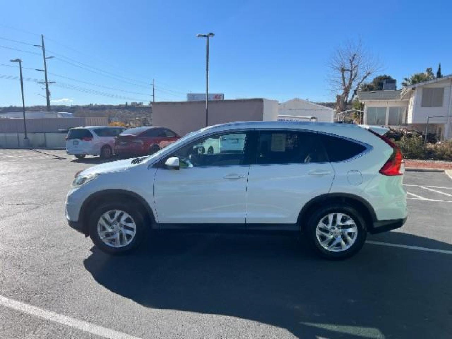
[[[100,217],[110,210],[121,210],[127,212],[135,222],[135,236],[130,242],[130,244],[123,247],[111,247],[106,245],[99,236],[98,233],[98,222]],[[148,226],[146,225],[146,217],[143,213],[136,207],[128,204],[127,202],[104,202],[99,207],[94,209],[88,218],[89,236],[93,240],[94,244],[103,252],[108,254],[124,254],[130,253],[136,250],[141,244],[142,240],[147,237]]]

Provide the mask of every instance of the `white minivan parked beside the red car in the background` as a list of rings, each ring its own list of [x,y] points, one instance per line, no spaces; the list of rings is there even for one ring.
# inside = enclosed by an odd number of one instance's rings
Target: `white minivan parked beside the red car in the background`
[[[67,154],[83,159],[86,155],[100,155],[108,159],[113,156],[114,138],[125,128],[114,126],[89,126],[71,128],[66,137]]]

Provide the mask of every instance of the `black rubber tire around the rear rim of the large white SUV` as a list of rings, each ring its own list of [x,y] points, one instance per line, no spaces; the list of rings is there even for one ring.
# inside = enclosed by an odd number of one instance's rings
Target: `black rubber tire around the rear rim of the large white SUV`
[[[330,213],[346,214],[348,217],[353,219],[357,227],[357,234],[355,236],[353,245],[351,245],[346,250],[342,250],[340,252],[333,252],[331,250],[325,249],[320,244],[320,240],[317,238],[317,225],[324,217],[326,217]],[[334,231],[336,232],[337,229]],[[314,250],[315,254],[325,259],[336,259],[336,260],[345,259],[358,253],[358,251],[361,250],[361,248],[363,247],[367,237],[366,221],[360,212],[358,212],[354,207],[346,204],[334,204],[330,206],[320,207],[311,215],[311,217],[309,217],[306,224],[306,235],[308,243],[311,245],[311,248],[312,250]],[[340,237],[342,237],[342,239],[345,240],[343,235],[340,235]],[[327,238],[325,237],[325,239]],[[332,239],[332,241],[329,244],[332,244],[333,241],[334,239]]]

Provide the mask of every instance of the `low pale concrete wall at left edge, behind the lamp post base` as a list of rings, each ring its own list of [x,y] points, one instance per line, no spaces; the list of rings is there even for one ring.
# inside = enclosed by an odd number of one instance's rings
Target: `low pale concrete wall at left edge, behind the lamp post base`
[[[0,133],[0,148],[25,148],[24,133]],[[66,148],[66,133],[27,133],[29,147]]]

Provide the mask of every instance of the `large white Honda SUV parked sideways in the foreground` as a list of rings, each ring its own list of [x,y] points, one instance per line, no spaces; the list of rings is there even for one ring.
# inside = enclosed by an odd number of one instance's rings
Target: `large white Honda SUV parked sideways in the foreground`
[[[245,141],[240,150],[199,151],[228,136]],[[302,232],[318,254],[341,259],[367,232],[405,223],[403,173],[400,150],[357,125],[235,122],[77,173],[66,218],[112,254],[150,229],[189,228]]]

